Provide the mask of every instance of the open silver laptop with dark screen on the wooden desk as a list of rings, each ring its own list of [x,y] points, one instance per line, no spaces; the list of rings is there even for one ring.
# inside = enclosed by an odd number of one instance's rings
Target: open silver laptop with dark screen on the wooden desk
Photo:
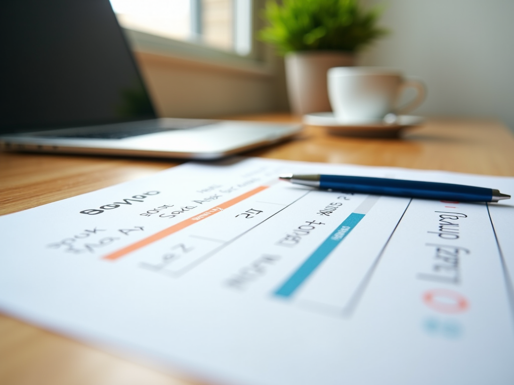
[[[108,0],[0,2],[4,150],[217,159],[296,124],[158,118]]]

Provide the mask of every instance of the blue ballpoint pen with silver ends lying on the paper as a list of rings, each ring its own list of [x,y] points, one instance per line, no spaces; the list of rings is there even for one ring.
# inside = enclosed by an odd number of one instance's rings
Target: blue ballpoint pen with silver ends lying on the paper
[[[351,177],[341,175],[282,174],[280,179],[291,183],[361,194],[393,195],[396,197],[437,199],[458,202],[498,202],[510,199],[492,188],[464,186],[461,184],[417,182],[400,179]]]

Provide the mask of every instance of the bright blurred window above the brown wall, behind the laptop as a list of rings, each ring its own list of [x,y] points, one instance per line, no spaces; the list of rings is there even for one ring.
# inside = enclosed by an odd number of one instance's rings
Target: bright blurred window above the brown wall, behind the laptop
[[[252,0],[111,0],[122,27],[247,56]]]

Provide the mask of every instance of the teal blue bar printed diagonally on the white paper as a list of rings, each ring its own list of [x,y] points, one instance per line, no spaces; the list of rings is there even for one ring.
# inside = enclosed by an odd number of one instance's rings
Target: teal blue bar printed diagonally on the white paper
[[[315,269],[334,251],[337,245],[353,230],[357,223],[364,218],[364,214],[350,214],[323,243],[311,254],[305,262],[293,273],[274,295],[278,297],[291,297],[302,283]]]

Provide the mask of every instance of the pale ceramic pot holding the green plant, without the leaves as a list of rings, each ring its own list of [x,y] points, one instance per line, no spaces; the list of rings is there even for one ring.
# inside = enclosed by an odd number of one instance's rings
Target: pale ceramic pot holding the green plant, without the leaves
[[[355,65],[355,55],[340,51],[291,52],[285,56],[287,93],[295,114],[332,111],[326,72]]]

